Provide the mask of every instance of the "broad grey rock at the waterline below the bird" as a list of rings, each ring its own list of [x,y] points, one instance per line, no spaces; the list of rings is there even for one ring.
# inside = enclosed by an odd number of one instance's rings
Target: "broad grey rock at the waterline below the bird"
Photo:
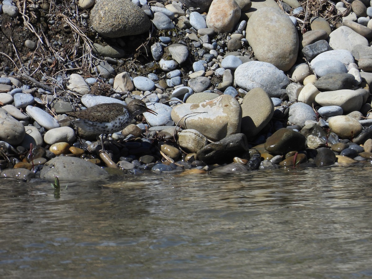
[[[60,180],[78,180],[81,178],[94,178],[108,174],[101,167],[90,163],[89,161],[60,156],[47,162],[41,170],[40,177],[45,179],[54,179],[58,176]]]

